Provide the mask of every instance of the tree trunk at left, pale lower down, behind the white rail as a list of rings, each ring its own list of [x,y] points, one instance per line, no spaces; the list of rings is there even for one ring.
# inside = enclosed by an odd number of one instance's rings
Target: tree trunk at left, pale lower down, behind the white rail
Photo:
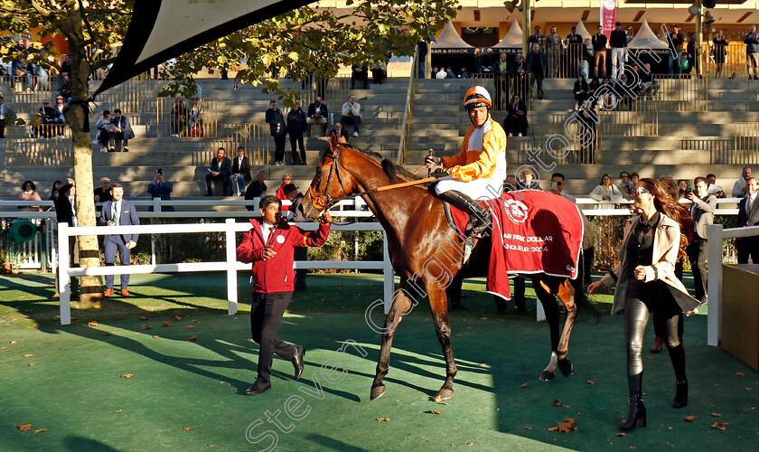
[[[77,183],[77,225],[96,226],[95,195],[92,186],[92,146],[89,138],[89,86],[91,68],[83,45],[82,20],[78,10],[69,14],[69,27],[64,30],[69,42],[71,59],[71,103],[66,120],[69,122],[74,146],[74,179]],[[64,28],[64,27],[61,27]],[[79,237],[80,267],[100,265],[97,236]],[[82,277],[80,302],[98,306],[102,300],[100,277]]]

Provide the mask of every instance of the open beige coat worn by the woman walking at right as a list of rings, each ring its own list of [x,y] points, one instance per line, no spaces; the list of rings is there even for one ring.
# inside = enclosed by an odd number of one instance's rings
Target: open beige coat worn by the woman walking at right
[[[627,295],[628,271],[623,272],[625,262],[625,250],[627,249],[627,240],[630,240],[630,231],[633,231],[641,216],[636,215],[629,219],[624,225],[624,240],[619,252],[619,261],[614,270],[614,281],[611,274],[607,273],[601,282],[605,287],[614,287],[614,305],[612,305],[612,315],[619,314],[624,309],[624,299]],[[670,219],[667,215],[660,213],[659,224],[656,226],[656,233],[653,237],[653,259],[652,264],[646,267],[645,282],[651,282],[660,279],[667,284],[672,297],[678,303],[684,313],[693,314],[692,311],[701,303],[694,297],[688,295],[688,290],[682,282],[675,276],[675,262],[678,259],[679,250],[679,225],[677,221]]]

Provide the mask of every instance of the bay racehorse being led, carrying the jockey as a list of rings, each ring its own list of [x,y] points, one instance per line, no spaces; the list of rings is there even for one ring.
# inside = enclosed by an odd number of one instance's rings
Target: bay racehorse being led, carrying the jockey
[[[439,278],[430,277],[425,265],[428,265],[430,260],[435,260],[436,265],[445,267],[441,268],[438,276],[445,274],[455,277],[462,270],[463,259],[453,262],[452,259],[436,258],[436,255],[463,256],[464,241],[454,233],[450,234],[453,240],[439,240],[440,232],[446,233],[451,229],[445,217],[443,202],[429,193],[428,184],[375,191],[390,184],[413,183],[417,180],[418,177],[402,167],[389,160],[381,160],[381,155],[370,155],[356,146],[337,143],[332,139],[330,149],[316,166],[314,180],[302,204],[305,214],[316,218],[323,209],[329,208],[334,202],[361,195],[385,230],[389,258],[401,282],[382,329],[382,344],[377,371],[371,385],[371,400],[377,399],[385,392],[382,381],[389,370],[393,335],[403,315],[408,314],[416,305],[409,295],[419,293],[418,287],[421,287],[423,292],[421,295],[424,296],[426,293],[429,300],[437,339],[445,356],[445,382],[440,391],[437,391],[435,399],[450,399],[454,394],[453,383],[457,371],[451,348],[451,325],[448,322],[445,294],[447,284],[441,285]],[[485,243],[486,241],[490,240],[479,240],[479,243],[475,244],[469,263],[464,266],[467,278],[486,274],[491,252],[490,243]],[[464,276],[464,272],[459,278]],[[575,295],[577,293],[580,299],[583,297],[583,291],[581,288],[578,290],[578,287],[573,287],[568,278],[551,277],[546,274],[530,274],[525,277],[532,279],[535,293],[543,305],[550,327],[551,358],[539,378],[542,381],[552,380],[557,366],[568,376],[572,372],[572,363],[567,360],[567,351],[569,334],[576,318]],[[447,282],[451,282],[450,278]],[[558,304],[554,295],[559,295],[567,307],[567,320],[560,337]]]

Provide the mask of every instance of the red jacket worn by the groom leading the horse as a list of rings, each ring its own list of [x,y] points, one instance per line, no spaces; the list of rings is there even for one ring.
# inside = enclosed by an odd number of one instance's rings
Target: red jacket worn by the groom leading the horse
[[[271,231],[267,243],[261,231],[261,222],[251,219],[253,228],[242,237],[237,249],[241,262],[253,262],[253,291],[263,294],[292,292],[295,280],[293,269],[294,247],[321,247],[330,234],[329,224],[320,224],[319,230],[306,232],[282,220]],[[271,246],[276,256],[264,259],[265,246]]]

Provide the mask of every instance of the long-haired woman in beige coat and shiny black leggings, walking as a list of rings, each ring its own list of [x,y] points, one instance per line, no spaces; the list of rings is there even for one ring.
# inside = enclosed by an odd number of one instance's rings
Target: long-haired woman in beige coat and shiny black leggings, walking
[[[612,314],[624,313],[627,340],[627,382],[630,390],[630,415],[620,426],[629,430],[646,425],[646,407],[642,401],[643,332],[653,313],[654,323],[665,332],[665,344],[675,370],[677,391],[674,408],[688,405],[688,379],[685,375],[685,351],[678,338],[679,313],[692,314],[700,305],[690,297],[675,277],[680,231],[678,205],[666,189],[650,178],[641,179],[631,193],[633,206],[641,212],[624,226],[620,263],[616,268],[588,286],[597,294],[601,287],[614,287]]]

